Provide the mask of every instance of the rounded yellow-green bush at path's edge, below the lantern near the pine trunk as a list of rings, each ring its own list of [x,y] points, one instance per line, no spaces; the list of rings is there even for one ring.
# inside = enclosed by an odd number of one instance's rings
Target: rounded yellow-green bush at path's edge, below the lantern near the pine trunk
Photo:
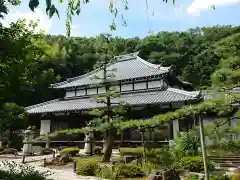
[[[82,176],[95,176],[100,167],[94,161],[82,161],[77,164],[77,174]]]

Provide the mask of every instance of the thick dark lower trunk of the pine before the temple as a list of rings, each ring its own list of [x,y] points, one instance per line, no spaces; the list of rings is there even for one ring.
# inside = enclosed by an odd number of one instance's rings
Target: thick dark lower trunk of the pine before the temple
[[[106,148],[104,151],[104,155],[103,155],[103,162],[109,162],[110,158],[112,156],[112,149],[113,149],[113,145],[114,145],[114,138],[116,136],[116,129],[111,129],[109,130],[109,132],[107,133],[107,144],[106,144]]]

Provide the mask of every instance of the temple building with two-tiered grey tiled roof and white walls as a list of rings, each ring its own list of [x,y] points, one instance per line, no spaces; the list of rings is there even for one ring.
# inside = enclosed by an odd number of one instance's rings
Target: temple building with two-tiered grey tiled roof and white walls
[[[203,99],[200,91],[176,77],[172,67],[149,63],[138,53],[116,56],[107,69],[115,70],[112,84],[119,89],[118,100],[131,107],[126,115],[129,119],[147,119]],[[65,97],[26,107],[29,122],[40,129],[41,135],[59,129],[85,127],[93,118],[88,111],[104,107],[104,104],[92,101],[93,96],[105,92],[101,81],[93,83],[95,76],[103,76],[103,69],[52,84],[51,88],[63,90]],[[172,139],[177,131],[189,129],[192,124],[191,119],[176,120],[167,128],[156,130],[154,137],[159,141]],[[127,131],[123,138],[134,140],[139,137]]]

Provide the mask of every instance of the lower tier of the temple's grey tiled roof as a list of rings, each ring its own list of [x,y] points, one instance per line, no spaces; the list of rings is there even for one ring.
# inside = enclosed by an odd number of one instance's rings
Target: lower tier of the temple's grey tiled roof
[[[162,104],[170,102],[183,102],[188,100],[198,99],[200,95],[199,91],[187,92],[179,89],[168,88],[166,90],[148,90],[138,92],[128,92],[121,94],[119,98],[114,101],[123,101],[129,105],[144,105],[144,104]],[[85,98],[67,98],[56,99],[45,103],[37,104],[25,108],[27,113],[46,113],[46,112],[64,112],[85,110],[92,108],[104,107],[104,104],[96,103],[90,99]]]

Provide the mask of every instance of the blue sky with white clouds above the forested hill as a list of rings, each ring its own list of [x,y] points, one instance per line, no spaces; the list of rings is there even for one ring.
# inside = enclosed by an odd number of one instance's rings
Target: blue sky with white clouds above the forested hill
[[[123,0],[116,0],[121,9]],[[109,0],[90,0],[89,4],[82,5],[79,16],[73,18],[72,36],[96,36],[100,33],[111,33],[113,36],[144,37],[149,30],[159,31],[184,31],[196,26],[213,25],[240,25],[240,0],[176,0],[173,5],[163,3],[162,0],[148,0],[148,15],[146,13],[146,0],[128,0],[129,10],[124,12],[127,27],[122,26],[122,20],[117,18],[117,30],[111,32],[109,25],[112,15],[108,11]],[[35,13],[28,8],[28,0],[19,7],[10,7],[10,13],[3,20],[7,25],[18,18],[39,19],[39,29],[44,29],[50,34],[65,34],[66,0],[57,7],[60,19],[49,19],[45,15],[44,1]],[[216,10],[211,9],[212,5]],[[149,18],[148,18],[149,16]]]

